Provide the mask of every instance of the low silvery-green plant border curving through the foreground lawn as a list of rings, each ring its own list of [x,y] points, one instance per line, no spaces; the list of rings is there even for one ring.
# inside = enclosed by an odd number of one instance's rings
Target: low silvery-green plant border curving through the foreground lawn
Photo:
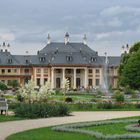
[[[97,139],[132,139],[132,138],[140,138],[139,133],[135,134],[114,134],[114,135],[104,135],[101,132],[98,131],[92,131],[92,130],[83,130],[80,128],[83,127],[90,127],[90,126],[100,126],[100,125],[109,125],[109,124],[116,124],[116,123],[136,123],[137,120],[111,120],[111,121],[98,121],[98,122],[84,122],[84,123],[75,123],[75,124],[67,124],[67,125],[61,125],[61,126],[55,126],[52,127],[52,130],[59,131],[59,132],[73,132],[73,133],[80,133],[80,134],[86,134],[90,136],[95,136]],[[128,125],[130,127],[130,125]],[[128,126],[125,127],[128,128]],[[132,125],[131,125],[132,126]],[[127,131],[130,131],[126,129]]]

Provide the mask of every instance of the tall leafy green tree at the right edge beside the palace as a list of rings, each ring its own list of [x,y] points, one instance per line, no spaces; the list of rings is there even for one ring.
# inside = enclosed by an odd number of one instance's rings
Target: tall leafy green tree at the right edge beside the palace
[[[122,55],[119,84],[140,89],[140,42],[134,44],[128,54]]]

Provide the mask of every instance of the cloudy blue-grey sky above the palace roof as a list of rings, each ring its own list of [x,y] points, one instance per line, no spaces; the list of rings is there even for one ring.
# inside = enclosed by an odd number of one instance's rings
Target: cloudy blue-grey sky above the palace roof
[[[52,41],[82,42],[103,55],[120,55],[122,45],[140,39],[140,0],[0,0],[0,44],[13,54],[42,49]]]

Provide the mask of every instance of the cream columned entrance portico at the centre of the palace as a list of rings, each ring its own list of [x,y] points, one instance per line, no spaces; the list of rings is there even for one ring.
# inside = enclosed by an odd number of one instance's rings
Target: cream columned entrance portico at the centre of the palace
[[[87,88],[87,68],[85,67],[52,67],[51,87],[63,88],[62,81],[67,78],[70,88]]]

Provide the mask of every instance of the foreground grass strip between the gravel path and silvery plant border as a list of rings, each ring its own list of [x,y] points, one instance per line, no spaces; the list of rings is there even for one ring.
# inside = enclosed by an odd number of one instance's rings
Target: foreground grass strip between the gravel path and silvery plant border
[[[92,136],[55,132],[51,128],[34,129],[9,136],[6,140],[96,140]]]

